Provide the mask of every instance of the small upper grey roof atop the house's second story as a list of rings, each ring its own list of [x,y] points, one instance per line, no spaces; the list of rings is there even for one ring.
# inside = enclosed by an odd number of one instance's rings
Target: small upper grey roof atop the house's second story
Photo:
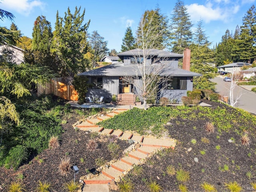
[[[146,55],[148,56],[157,56],[157,57],[175,57],[175,58],[182,58],[182,54],[168,52],[164,50],[158,50],[158,49],[146,49],[144,50],[146,52]],[[122,53],[118,53],[117,56],[120,57],[120,59],[124,59],[124,56],[139,56],[143,55],[142,49],[132,49],[129,51],[125,51]]]

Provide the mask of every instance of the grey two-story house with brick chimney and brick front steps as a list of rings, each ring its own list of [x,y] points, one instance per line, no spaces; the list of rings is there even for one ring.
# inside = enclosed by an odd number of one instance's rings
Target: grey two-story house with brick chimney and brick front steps
[[[86,76],[89,83],[94,86],[88,89],[86,96],[100,98],[104,96],[105,100],[110,101],[112,95],[118,95],[118,101],[124,101],[125,96],[134,96],[138,93],[137,88],[133,84],[124,84],[123,76],[136,76],[136,64],[134,56],[141,55],[142,50],[134,49],[119,53],[118,56],[122,62],[110,64],[102,68],[90,70],[78,74],[79,76]],[[187,91],[193,89],[193,77],[202,76],[190,70],[190,50],[184,51],[183,69],[178,68],[178,60],[183,57],[182,54],[176,54],[163,50],[150,50],[150,58],[147,60],[147,65],[152,65],[156,58],[159,60],[157,65],[166,65],[165,72],[160,75],[172,76],[172,81],[169,86],[161,92],[160,97],[167,97],[170,100],[181,101],[182,96],[187,96]],[[156,65],[156,66],[157,66]],[[134,98],[133,98],[134,100]],[[128,104],[128,102],[123,102]],[[133,104],[130,101],[130,104]]]

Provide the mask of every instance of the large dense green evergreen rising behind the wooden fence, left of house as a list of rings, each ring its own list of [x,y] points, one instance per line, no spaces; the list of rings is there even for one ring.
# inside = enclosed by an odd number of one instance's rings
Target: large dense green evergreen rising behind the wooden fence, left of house
[[[76,7],[72,14],[68,7],[64,18],[59,17],[58,12],[56,14],[53,51],[56,53],[56,60],[60,63],[61,75],[71,77],[71,79],[74,74],[90,68],[90,63],[85,57],[88,52],[86,34],[90,20],[82,24],[85,9],[82,14],[80,14],[80,9],[81,7]]]

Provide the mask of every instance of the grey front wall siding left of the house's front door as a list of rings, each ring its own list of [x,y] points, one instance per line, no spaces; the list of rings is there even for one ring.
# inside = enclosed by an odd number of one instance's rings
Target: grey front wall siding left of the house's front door
[[[89,83],[91,78],[88,77]],[[112,95],[118,94],[119,77],[118,76],[103,76],[102,89],[88,89],[86,97],[98,98],[104,96],[104,100],[111,101]]]

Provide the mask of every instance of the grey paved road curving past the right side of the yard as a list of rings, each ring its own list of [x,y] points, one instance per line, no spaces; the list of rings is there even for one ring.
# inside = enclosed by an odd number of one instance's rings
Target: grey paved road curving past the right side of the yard
[[[223,78],[216,77],[212,80],[212,82],[216,82],[216,92],[222,96],[228,96],[230,93],[230,82],[223,81]],[[238,100],[238,104],[236,107],[244,109],[250,113],[256,114],[256,93],[250,92],[244,88],[236,86],[234,89],[234,98],[237,95],[242,94],[242,96]]]

